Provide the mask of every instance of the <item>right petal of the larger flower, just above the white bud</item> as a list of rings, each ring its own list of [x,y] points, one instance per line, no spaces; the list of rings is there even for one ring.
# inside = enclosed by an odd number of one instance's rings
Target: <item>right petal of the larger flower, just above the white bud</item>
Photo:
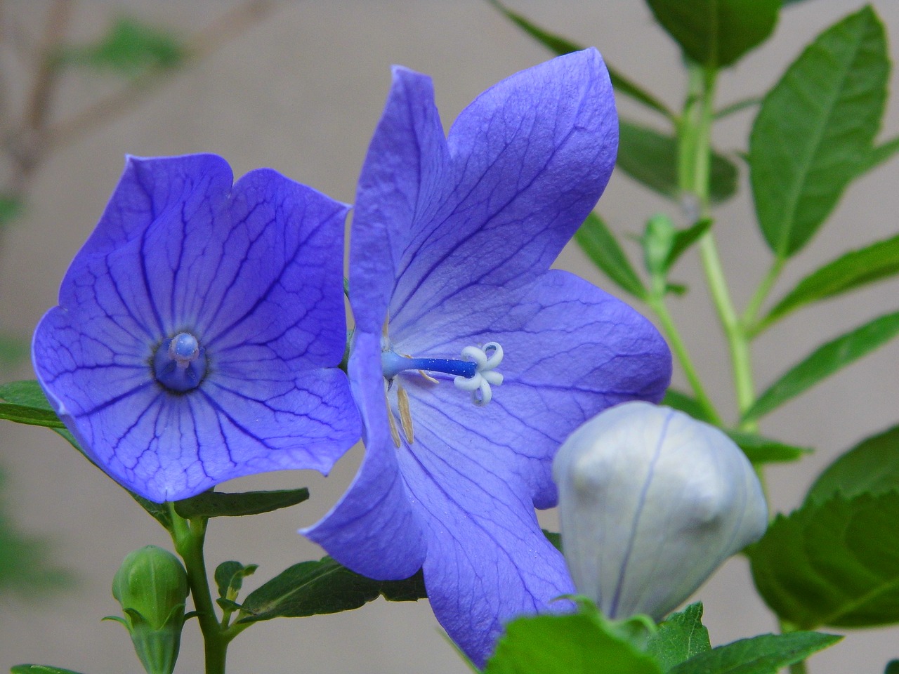
[[[505,357],[503,385],[476,407],[441,382],[408,377],[404,386],[433,419],[416,427],[479,429],[491,454],[508,448],[509,469],[526,476],[538,508],[556,504],[551,462],[568,434],[597,412],[628,400],[658,401],[668,387],[671,353],[653,324],[616,297],[574,274],[550,270],[524,288],[494,292],[465,314],[448,313],[394,342],[396,350],[458,358],[471,344],[497,341]]]

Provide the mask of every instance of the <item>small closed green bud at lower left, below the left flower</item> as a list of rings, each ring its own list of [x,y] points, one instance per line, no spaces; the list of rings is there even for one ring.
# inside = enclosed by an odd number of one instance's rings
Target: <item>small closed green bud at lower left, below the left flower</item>
[[[138,659],[147,674],[172,674],[181,648],[187,572],[174,554],[147,545],[128,554],[112,580]]]

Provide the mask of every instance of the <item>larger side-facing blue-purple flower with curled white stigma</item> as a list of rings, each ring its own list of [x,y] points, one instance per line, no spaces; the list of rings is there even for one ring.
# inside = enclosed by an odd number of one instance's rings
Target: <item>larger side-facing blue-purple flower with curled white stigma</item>
[[[574,590],[534,506],[596,412],[657,400],[652,324],[549,270],[599,199],[618,145],[595,49],[482,93],[449,137],[430,78],[394,70],[352,225],[349,373],[366,456],[302,533],[379,579],[420,565],[437,618],[482,664],[503,621]]]

